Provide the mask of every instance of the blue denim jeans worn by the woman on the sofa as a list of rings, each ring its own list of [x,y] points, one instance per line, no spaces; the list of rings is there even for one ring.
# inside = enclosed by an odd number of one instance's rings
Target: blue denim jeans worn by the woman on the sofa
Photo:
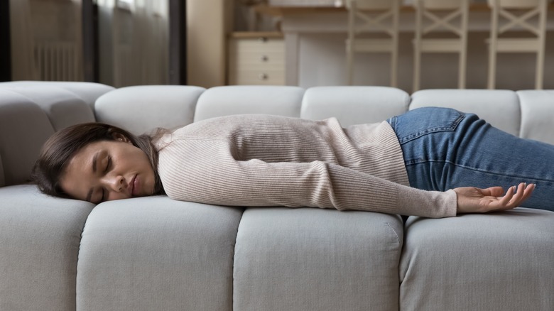
[[[508,187],[535,183],[524,207],[554,210],[554,146],[518,138],[474,114],[414,109],[389,119],[400,142],[411,187]]]

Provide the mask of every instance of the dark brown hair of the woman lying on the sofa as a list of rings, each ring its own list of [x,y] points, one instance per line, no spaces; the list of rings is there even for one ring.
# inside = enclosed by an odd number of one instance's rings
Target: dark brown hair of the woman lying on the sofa
[[[35,183],[38,189],[46,195],[70,197],[60,186],[60,177],[73,155],[89,143],[114,141],[115,134],[129,138],[134,146],[146,153],[154,170],[153,195],[162,194],[163,187],[158,175],[158,151],[153,146],[153,138],[146,134],[135,136],[117,126],[96,122],[69,126],[50,136],[40,150],[38,160],[33,166],[31,182]]]

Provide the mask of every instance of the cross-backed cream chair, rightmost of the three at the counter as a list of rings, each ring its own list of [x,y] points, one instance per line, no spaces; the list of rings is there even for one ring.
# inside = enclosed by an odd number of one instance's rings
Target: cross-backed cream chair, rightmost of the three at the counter
[[[488,0],[488,3],[491,7],[491,37],[488,40],[487,87],[489,89],[496,87],[497,53],[536,53],[535,88],[542,89],[548,0]],[[501,21],[505,21],[503,25]],[[499,38],[507,31],[528,31],[531,37]]]

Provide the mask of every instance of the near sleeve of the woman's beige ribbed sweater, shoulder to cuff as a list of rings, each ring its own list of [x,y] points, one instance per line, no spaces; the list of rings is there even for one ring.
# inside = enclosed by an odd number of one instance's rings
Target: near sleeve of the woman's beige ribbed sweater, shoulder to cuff
[[[333,163],[267,163],[223,156],[214,142],[202,144],[190,159],[173,141],[160,155],[163,187],[174,200],[229,206],[320,207],[422,217],[456,215],[456,194],[399,185]],[[188,144],[190,149],[190,143]],[[211,151],[210,151],[211,149]],[[202,151],[201,153],[199,153]]]

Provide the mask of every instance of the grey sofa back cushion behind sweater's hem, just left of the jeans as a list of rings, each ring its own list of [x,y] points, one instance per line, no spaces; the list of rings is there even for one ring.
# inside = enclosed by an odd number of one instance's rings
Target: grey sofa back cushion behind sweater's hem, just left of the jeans
[[[410,96],[393,87],[311,87],[300,117],[322,120],[335,116],[343,127],[377,123],[408,110]]]

